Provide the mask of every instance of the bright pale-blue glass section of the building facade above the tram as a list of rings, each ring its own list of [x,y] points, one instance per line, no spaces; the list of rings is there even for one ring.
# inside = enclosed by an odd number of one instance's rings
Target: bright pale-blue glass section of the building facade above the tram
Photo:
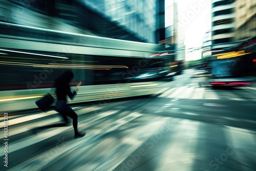
[[[83,0],[83,2],[139,39],[155,42],[157,0]]]

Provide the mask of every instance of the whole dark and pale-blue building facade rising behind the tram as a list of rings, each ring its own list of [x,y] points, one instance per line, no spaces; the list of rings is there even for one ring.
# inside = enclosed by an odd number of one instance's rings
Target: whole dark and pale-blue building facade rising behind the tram
[[[164,0],[11,0],[96,35],[158,43],[164,36]]]

